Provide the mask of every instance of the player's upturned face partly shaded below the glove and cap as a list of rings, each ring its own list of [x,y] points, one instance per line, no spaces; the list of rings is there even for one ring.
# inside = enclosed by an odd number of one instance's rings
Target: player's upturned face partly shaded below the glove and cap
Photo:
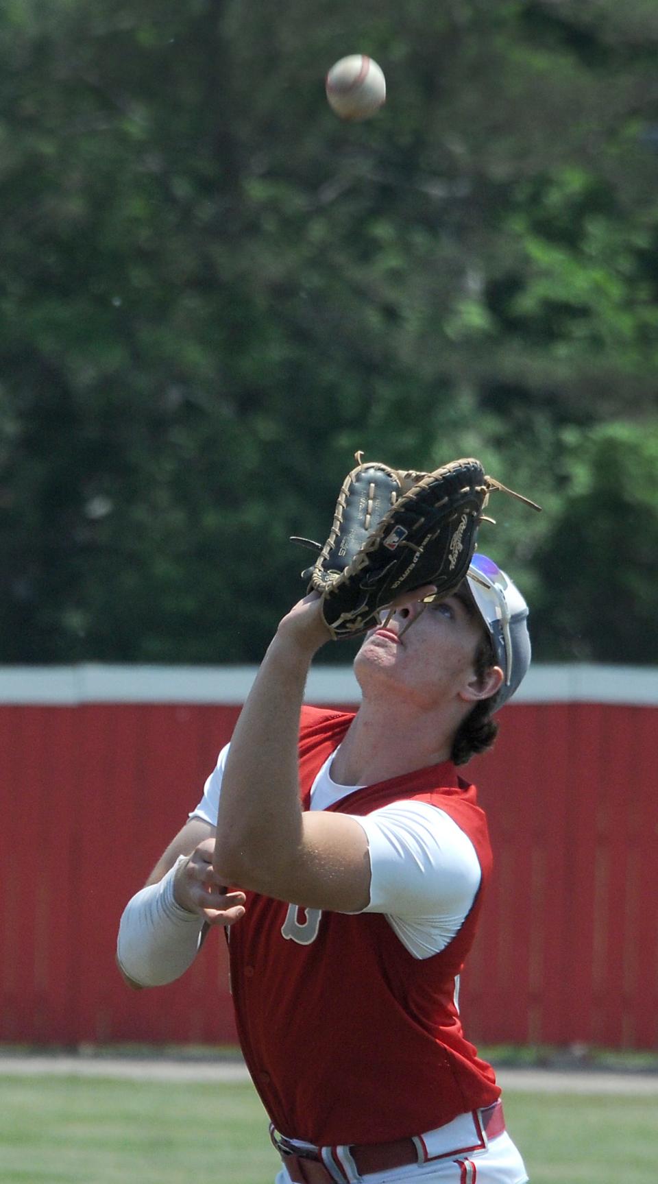
[[[387,626],[368,633],[354,663],[362,689],[373,680],[422,708],[460,699],[475,677],[484,625],[469,593],[399,609]]]

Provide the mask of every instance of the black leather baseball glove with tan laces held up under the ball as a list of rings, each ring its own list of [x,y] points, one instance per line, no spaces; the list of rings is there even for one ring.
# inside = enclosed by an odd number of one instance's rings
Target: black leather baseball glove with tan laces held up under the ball
[[[440,598],[454,592],[469,571],[492,489],[528,502],[485,476],[473,458],[436,472],[401,472],[362,464],[361,455],[342,484],[324,546],[293,540],[320,552],[302,577],[308,592],[320,592],[335,641],[366,633],[392,600],[425,584]]]

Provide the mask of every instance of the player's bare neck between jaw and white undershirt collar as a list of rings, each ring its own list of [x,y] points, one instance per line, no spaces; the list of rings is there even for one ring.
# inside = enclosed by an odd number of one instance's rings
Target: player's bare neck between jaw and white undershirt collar
[[[441,734],[443,733],[443,734]],[[437,716],[391,712],[362,702],[331,765],[338,785],[374,785],[404,773],[450,760],[452,728],[441,729]]]

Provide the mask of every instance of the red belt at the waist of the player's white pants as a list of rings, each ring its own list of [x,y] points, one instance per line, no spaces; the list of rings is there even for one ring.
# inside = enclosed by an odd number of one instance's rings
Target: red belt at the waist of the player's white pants
[[[497,1101],[484,1109],[460,1114],[434,1131],[393,1143],[316,1147],[288,1139],[272,1126],[270,1137],[293,1184],[351,1184],[372,1172],[483,1151],[489,1140],[504,1130],[503,1103]]]

